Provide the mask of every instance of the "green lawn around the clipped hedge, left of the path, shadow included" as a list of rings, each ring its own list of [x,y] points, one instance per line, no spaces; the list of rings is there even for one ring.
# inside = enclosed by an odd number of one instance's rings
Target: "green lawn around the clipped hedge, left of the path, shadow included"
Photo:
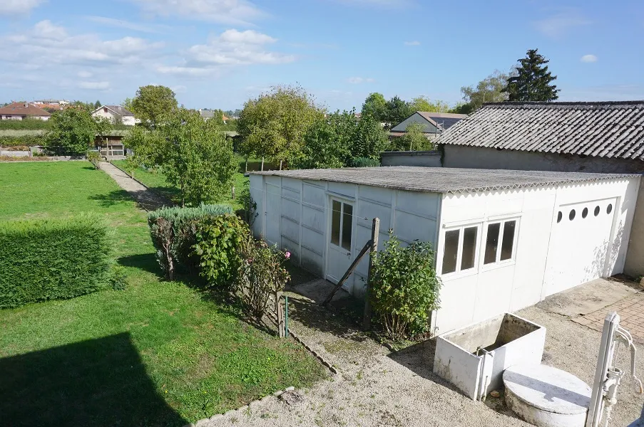
[[[87,162],[0,164],[0,221],[94,211],[128,287],[0,310],[7,425],[182,426],[324,371],[186,283],[160,280],[145,213]],[[1,273],[0,273],[1,274]]]

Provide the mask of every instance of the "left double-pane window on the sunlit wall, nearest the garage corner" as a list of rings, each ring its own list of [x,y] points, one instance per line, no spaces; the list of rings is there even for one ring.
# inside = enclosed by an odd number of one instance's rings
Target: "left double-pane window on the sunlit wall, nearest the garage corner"
[[[474,268],[478,240],[479,226],[465,226],[446,231],[441,272],[455,273]]]

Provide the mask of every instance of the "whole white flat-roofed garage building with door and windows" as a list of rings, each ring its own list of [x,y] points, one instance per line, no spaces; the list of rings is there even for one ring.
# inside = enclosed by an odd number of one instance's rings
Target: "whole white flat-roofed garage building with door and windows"
[[[253,231],[337,283],[372,218],[429,241],[443,280],[443,333],[623,271],[639,175],[426,167],[251,174]],[[360,296],[367,258],[345,289]]]

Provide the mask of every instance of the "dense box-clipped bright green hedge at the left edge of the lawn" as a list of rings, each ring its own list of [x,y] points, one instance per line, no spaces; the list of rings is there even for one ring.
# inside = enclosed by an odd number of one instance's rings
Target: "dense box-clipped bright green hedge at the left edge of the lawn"
[[[110,286],[111,244],[97,216],[0,223],[0,308]]]

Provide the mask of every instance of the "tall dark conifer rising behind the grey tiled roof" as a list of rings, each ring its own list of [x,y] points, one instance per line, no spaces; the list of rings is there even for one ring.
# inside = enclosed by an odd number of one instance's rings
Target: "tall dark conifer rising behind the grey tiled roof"
[[[553,101],[559,95],[556,85],[551,84],[557,76],[548,71],[549,60],[537,53],[538,49],[530,49],[526,58],[518,60],[516,75],[508,78],[504,92],[508,93],[509,101]]]

